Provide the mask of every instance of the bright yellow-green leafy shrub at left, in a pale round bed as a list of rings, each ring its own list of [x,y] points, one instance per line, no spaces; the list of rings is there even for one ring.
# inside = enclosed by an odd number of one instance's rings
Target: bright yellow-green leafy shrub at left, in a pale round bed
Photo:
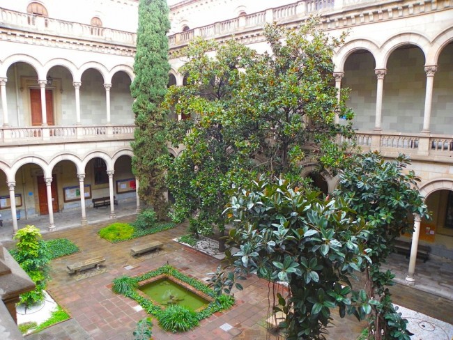
[[[27,225],[14,236],[17,252],[13,254],[17,263],[36,284],[33,291],[20,295],[20,303],[31,306],[44,300],[44,290],[49,279],[49,252],[36,226]]]

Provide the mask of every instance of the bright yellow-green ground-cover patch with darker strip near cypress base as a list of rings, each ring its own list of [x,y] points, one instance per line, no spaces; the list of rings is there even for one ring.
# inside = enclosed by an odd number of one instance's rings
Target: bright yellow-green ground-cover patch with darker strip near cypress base
[[[123,225],[123,230],[116,230],[116,231],[105,231],[105,229],[109,229],[111,226],[114,226],[115,224],[121,224]],[[153,233],[159,233],[160,231],[172,229],[176,226],[176,224],[172,222],[162,222],[162,223],[156,223],[154,226],[150,226],[148,228],[141,228],[134,226],[133,224],[127,224],[127,223],[114,223],[110,224],[109,226],[100,229],[99,235],[101,238],[105,238],[105,240],[116,243],[116,242],[123,242],[127,240],[132,240],[134,238],[141,238],[141,236],[146,236],[146,235],[151,235]],[[104,235],[109,235],[105,237]]]

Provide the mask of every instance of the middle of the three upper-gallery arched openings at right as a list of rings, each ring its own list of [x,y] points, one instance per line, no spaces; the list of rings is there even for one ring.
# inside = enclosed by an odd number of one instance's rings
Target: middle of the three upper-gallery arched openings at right
[[[387,61],[387,75],[384,78],[383,130],[422,130],[426,84],[422,50],[414,45],[395,49]]]

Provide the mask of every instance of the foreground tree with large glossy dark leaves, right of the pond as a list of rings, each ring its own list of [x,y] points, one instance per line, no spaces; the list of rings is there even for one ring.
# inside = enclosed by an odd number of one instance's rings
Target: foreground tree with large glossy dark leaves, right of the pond
[[[330,310],[346,314],[349,277],[364,261],[365,249],[359,247],[364,229],[349,217],[351,210],[343,200],[320,199],[320,194],[263,177],[234,190],[225,210],[236,226],[229,242],[240,251],[227,254],[232,272],[215,273],[215,291],[240,289],[237,280],[252,271],[272,282],[286,282],[289,296],[278,295],[273,307],[286,314],[286,339],[323,339]]]

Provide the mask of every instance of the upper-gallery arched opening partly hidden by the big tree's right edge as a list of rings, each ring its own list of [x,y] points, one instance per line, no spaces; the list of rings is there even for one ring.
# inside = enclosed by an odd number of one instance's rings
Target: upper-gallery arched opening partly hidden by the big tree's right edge
[[[374,56],[366,49],[353,52],[344,63],[341,88],[349,88],[346,102],[355,112],[353,125],[359,130],[373,130],[376,116],[376,75]],[[343,120],[341,120],[343,121]]]

